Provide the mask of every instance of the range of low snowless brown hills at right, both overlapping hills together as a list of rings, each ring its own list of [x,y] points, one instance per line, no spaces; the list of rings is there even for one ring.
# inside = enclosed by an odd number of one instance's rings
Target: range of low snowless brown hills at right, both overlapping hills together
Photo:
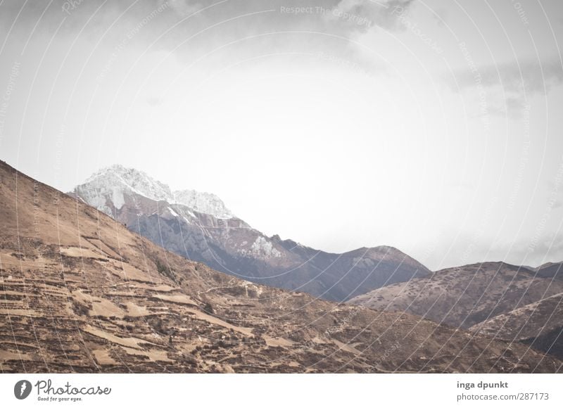
[[[443,269],[359,295],[352,305],[417,314],[449,326],[521,341],[563,357],[562,264],[483,262]]]

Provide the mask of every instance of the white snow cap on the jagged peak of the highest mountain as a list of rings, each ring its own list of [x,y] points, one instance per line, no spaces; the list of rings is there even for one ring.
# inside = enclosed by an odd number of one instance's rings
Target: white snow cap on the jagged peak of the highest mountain
[[[125,204],[125,194],[139,194],[151,200],[165,200],[170,204],[186,205],[196,212],[213,215],[217,218],[232,218],[222,200],[211,193],[199,193],[194,190],[175,191],[172,193],[166,184],[149,177],[145,172],[113,165],[92,174],[84,184],[75,189],[82,200],[106,214],[113,216],[108,207],[110,200],[115,208]]]

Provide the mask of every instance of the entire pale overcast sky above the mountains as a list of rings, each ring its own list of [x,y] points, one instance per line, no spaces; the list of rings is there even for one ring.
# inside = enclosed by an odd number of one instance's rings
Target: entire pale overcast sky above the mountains
[[[562,44],[559,0],[0,1],[0,158],[323,250],[561,261]]]

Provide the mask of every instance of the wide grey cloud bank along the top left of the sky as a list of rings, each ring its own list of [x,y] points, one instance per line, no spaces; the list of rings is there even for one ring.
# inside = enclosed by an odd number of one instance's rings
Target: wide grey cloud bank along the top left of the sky
[[[6,0],[0,6],[0,32],[15,23],[8,42],[16,51],[32,32],[31,43],[46,46],[62,24],[57,40],[80,35],[82,48],[96,45],[101,52],[113,53],[120,44],[142,52],[151,46],[148,51],[174,50],[182,63],[217,67],[301,53],[340,58],[375,72],[384,61],[364,56],[354,40],[369,30],[404,30],[398,18],[413,1],[37,0],[24,5]]]

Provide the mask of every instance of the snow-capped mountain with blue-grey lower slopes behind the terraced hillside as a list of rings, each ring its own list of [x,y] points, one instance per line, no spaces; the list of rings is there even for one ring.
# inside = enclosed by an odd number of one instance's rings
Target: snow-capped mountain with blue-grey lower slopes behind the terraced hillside
[[[335,254],[266,236],[213,194],[171,191],[146,173],[120,165],[93,174],[71,194],[190,260],[327,300],[341,302],[429,274],[424,265],[388,246]]]

